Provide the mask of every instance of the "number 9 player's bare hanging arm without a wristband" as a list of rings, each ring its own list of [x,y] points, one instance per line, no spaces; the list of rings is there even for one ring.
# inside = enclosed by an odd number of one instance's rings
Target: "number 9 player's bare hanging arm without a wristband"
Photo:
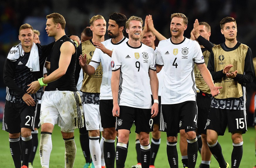
[[[120,80],[120,69],[117,71],[112,71],[112,77],[111,77],[111,90],[112,90],[112,96],[113,96],[112,114],[114,117],[119,117],[119,114],[120,114],[120,108],[118,105],[119,80]]]

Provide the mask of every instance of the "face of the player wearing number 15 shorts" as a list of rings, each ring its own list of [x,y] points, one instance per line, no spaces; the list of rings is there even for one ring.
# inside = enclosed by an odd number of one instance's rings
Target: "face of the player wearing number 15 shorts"
[[[237,35],[237,27],[235,22],[225,23],[223,29],[221,29],[221,33],[224,35],[226,40],[232,41],[236,39]]]

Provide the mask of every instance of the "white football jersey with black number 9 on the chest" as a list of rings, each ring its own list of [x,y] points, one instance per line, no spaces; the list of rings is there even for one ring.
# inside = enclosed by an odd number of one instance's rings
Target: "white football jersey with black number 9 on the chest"
[[[151,95],[149,70],[156,71],[154,49],[141,44],[140,47],[126,45],[116,47],[112,54],[112,71],[120,69],[118,104],[150,109]]]

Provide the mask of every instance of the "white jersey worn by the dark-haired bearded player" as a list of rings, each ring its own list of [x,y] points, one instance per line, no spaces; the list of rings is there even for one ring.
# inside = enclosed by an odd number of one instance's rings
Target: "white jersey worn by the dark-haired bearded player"
[[[128,38],[124,37],[120,42],[114,44],[112,43],[111,39],[105,40],[101,42],[107,49],[113,50],[114,48],[126,44]],[[110,100],[113,99],[112,91],[111,91],[111,57],[108,54],[104,54],[100,49],[96,48],[94,54],[92,56],[91,62],[89,65],[96,68],[101,63],[102,66],[102,81],[101,81],[101,88],[100,88],[100,100]]]

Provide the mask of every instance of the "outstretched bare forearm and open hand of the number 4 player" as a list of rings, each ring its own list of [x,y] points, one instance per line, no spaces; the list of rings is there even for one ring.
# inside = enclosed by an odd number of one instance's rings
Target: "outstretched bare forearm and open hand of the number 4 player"
[[[211,95],[213,97],[217,96],[218,94],[220,94],[219,89],[221,89],[222,87],[217,87],[214,85],[212,77],[211,77],[211,73],[210,71],[207,69],[205,64],[197,64],[197,67],[199,69],[199,71],[201,72],[204,81],[206,82],[206,84],[208,85],[208,87],[211,90]]]

